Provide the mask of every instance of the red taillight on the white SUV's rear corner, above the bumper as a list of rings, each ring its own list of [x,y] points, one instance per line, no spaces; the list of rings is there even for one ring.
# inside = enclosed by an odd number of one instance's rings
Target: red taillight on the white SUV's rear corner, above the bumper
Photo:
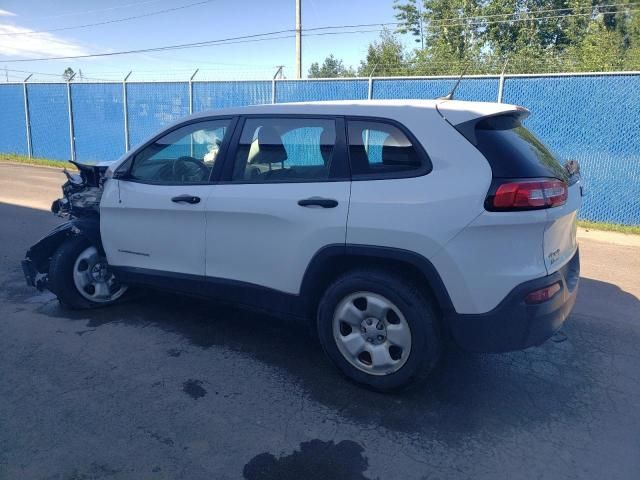
[[[501,184],[490,198],[492,210],[529,210],[564,205],[569,190],[562,180],[520,180]]]

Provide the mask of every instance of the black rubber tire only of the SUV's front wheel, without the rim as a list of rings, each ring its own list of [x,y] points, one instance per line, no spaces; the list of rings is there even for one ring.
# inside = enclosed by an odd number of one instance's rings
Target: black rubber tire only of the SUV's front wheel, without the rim
[[[93,302],[83,297],[73,281],[73,268],[78,256],[91,246],[91,243],[80,236],[68,237],[51,257],[49,263],[49,279],[47,288],[56,296],[60,303],[74,310],[111,305],[110,302]]]

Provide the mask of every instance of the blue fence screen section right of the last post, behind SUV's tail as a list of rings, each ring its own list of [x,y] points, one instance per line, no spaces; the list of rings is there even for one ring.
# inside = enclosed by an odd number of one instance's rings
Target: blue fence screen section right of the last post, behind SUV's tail
[[[508,78],[504,101],[558,158],[580,162],[581,217],[640,223],[640,76]]]

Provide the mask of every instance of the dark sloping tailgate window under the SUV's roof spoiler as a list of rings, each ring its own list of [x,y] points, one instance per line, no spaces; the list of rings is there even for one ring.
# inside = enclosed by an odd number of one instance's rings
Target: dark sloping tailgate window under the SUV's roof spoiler
[[[480,120],[469,140],[486,157],[495,178],[554,177],[567,180],[565,169],[518,117]]]

